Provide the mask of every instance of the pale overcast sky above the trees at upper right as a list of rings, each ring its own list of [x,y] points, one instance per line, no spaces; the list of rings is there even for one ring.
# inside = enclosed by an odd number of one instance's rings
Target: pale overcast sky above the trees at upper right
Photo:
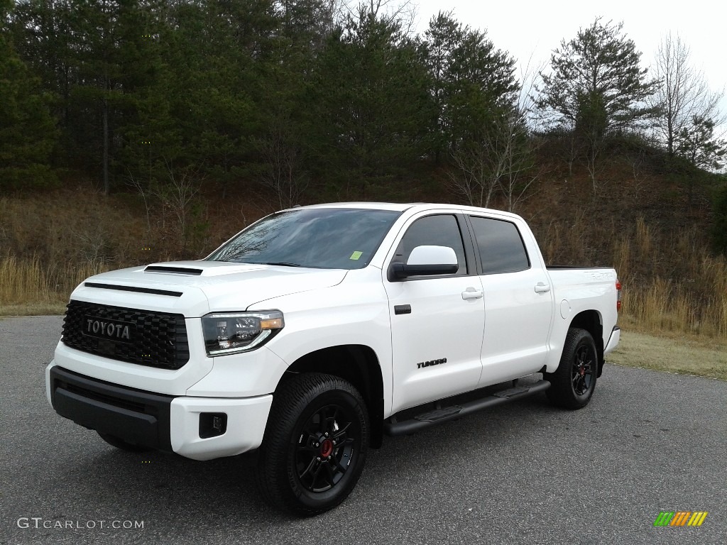
[[[486,30],[495,47],[515,57],[518,68],[550,61],[562,39],[576,36],[595,17],[623,21],[624,32],[642,53],[644,66],[651,65],[662,37],[679,34],[691,49],[691,60],[707,76],[712,91],[727,89],[727,8],[715,0],[608,0],[595,6],[574,0],[411,0],[417,5],[417,33],[423,33],[439,11],[453,11],[458,21]],[[722,5],[723,7],[719,7]],[[727,113],[727,98],[722,100]]]

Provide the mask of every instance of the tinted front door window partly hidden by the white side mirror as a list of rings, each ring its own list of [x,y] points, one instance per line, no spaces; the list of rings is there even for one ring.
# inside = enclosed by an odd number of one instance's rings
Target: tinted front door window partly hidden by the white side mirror
[[[395,263],[406,263],[411,250],[417,246],[449,246],[457,254],[457,275],[467,274],[465,246],[462,234],[459,233],[457,219],[450,214],[438,214],[417,219],[404,233],[396,248],[392,260]]]

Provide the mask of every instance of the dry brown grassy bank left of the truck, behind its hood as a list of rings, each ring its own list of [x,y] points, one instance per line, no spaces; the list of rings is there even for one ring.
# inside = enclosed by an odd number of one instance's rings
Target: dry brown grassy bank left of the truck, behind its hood
[[[161,207],[149,230],[137,195],[105,197],[78,187],[0,197],[0,315],[63,313],[73,288],[90,275],[197,259],[267,212],[232,198],[215,211],[214,229],[195,246],[175,236]]]

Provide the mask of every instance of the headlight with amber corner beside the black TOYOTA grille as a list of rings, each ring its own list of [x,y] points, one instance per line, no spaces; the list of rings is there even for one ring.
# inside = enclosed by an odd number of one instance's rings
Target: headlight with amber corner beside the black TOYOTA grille
[[[284,326],[279,310],[224,312],[202,317],[204,347],[208,356],[245,352],[259,346]]]

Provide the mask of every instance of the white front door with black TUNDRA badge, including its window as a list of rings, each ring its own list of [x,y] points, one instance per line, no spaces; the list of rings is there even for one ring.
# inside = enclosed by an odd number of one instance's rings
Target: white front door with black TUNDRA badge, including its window
[[[477,387],[484,307],[469,237],[463,216],[451,211],[419,215],[404,226],[400,242],[387,258],[389,268],[394,262],[406,263],[417,246],[449,246],[459,267],[452,275],[406,280],[395,280],[384,271],[394,412]]]

